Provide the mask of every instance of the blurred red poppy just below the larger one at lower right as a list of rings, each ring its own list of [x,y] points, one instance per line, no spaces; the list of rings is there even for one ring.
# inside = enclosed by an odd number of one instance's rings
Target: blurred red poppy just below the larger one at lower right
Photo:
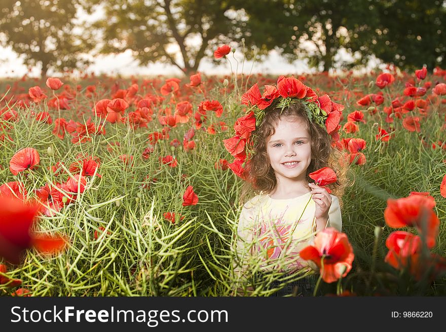
[[[411,256],[421,249],[421,238],[403,231],[392,232],[386,240],[389,249],[384,261],[397,270],[410,264]]]

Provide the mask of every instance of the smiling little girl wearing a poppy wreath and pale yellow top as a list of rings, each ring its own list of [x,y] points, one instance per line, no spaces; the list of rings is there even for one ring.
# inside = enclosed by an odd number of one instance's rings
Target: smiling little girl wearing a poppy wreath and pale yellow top
[[[256,268],[263,275],[285,272],[288,282],[276,296],[296,290],[311,295],[315,278],[302,278],[310,268],[299,252],[318,231],[341,231],[340,202],[330,192],[341,193],[341,168],[334,164],[342,159],[332,146],[339,140],[344,106],[284,77],[277,87],[266,86],[263,95],[255,84],[242,103],[249,107],[247,115],[237,120],[236,134],[225,140],[225,147],[236,158],[229,167],[246,180],[242,202],[249,193],[258,194],[241,211],[234,270],[241,280],[256,275],[250,271]],[[331,190],[308,176],[322,167],[338,175]],[[277,281],[270,285],[281,286]]]

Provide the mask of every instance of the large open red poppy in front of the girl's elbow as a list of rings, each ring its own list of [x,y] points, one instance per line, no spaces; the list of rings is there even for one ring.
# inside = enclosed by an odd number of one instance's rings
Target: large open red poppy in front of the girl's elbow
[[[314,239],[314,246],[305,247],[300,255],[304,260],[313,261],[320,270],[323,257],[321,273],[322,279],[327,283],[337,281],[341,278],[341,273],[345,277],[352,269],[355,258],[347,235],[332,227],[320,231]]]

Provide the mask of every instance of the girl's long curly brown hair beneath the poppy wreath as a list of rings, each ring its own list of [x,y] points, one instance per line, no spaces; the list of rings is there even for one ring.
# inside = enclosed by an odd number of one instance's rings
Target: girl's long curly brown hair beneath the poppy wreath
[[[332,194],[337,196],[342,207],[349,163],[344,155],[331,147],[331,136],[326,129],[312,122],[307,115],[305,106],[300,101],[291,104],[283,110],[271,105],[265,109],[262,123],[252,132],[252,142],[255,153],[246,165],[246,181],[241,190],[239,203],[243,204],[248,197],[260,192],[271,193],[277,185],[276,175],[267,153],[267,141],[275,133],[275,127],[282,119],[302,121],[311,137],[311,162],[307,169],[307,181],[313,182],[308,174],[322,168],[330,167],[337,175],[337,181],[327,186]]]

